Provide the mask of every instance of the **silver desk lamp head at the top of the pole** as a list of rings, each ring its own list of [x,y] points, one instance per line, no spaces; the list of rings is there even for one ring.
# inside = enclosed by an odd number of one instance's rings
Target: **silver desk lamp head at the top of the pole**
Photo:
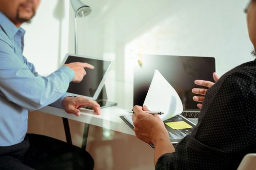
[[[85,5],[80,0],[70,0],[70,2],[78,17],[88,16],[92,12],[90,6]]]

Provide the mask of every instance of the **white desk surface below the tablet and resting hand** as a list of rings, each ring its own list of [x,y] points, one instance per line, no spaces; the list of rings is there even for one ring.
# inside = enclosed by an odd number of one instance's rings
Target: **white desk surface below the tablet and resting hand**
[[[63,109],[52,106],[43,107],[39,111],[67,119],[77,120],[87,124],[100,126],[113,131],[135,135],[134,131],[122,119],[119,118],[119,116],[131,115],[131,113],[124,109],[118,108],[118,106],[101,109],[101,115],[94,115],[93,111],[88,109],[82,108],[80,110],[81,115],[79,117],[73,114],[68,114]]]

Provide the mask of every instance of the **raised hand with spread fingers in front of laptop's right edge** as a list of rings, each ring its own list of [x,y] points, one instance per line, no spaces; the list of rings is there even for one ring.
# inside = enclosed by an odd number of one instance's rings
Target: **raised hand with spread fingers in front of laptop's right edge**
[[[216,72],[213,73],[213,78],[214,78],[214,81],[217,82],[218,79],[219,79],[219,76],[217,75]],[[205,87],[208,87],[210,88],[211,86],[213,86],[215,83],[213,82],[210,82],[210,81],[205,81],[205,80],[195,80],[195,84],[196,85],[202,85],[202,86],[205,86]],[[206,91],[207,89],[204,89],[204,88],[193,88],[192,89],[192,92],[195,93],[195,94],[200,94],[200,95],[204,95],[206,94]],[[193,97],[193,100],[195,102],[203,102],[204,101],[204,96],[194,96]],[[197,107],[199,109],[202,108],[202,103],[198,103],[197,104]]]

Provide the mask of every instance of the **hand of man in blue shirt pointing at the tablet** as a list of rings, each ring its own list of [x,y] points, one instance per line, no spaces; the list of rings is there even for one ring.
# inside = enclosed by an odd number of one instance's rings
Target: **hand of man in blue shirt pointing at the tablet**
[[[67,66],[74,70],[75,76],[72,82],[75,82],[75,83],[79,83],[83,80],[83,77],[86,75],[86,71],[84,68],[94,69],[94,66],[88,63],[80,63],[80,62],[69,63],[69,64],[65,64],[64,66]]]

